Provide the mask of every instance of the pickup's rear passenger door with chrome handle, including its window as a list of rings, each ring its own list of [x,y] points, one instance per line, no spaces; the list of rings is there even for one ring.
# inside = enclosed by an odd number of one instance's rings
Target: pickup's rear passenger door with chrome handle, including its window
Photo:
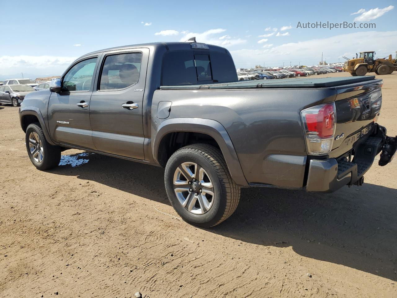
[[[98,151],[145,159],[142,111],[148,56],[148,48],[103,55],[90,103]]]

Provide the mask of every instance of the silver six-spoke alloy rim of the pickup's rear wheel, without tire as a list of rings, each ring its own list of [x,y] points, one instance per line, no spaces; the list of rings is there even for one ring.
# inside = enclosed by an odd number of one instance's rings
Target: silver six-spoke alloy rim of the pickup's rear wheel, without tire
[[[216,199],[209,175],[197,163],[180,164],[174,172],[173,187],[179,203],[193,214],[208,212]]]

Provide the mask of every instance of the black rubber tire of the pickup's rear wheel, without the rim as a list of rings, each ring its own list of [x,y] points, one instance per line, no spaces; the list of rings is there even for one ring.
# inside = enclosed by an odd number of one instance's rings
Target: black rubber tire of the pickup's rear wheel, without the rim
[[[214,202],[204,214],[197,215],[188,211],[174,191],[175,171],[182,163],[187,162],[202,167],[213,185]],[[216,226],[230,217],[239,204],[240,187],[232,180],[222,153],[212,145],[193,144],[175,151],[167,162],[164,182],[172,207],[184,221],[195,226]]]

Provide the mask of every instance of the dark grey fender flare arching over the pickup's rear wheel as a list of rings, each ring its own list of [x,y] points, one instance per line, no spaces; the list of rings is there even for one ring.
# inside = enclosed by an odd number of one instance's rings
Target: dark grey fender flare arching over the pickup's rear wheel
[[[202,118],[171,118],[163,121],[152,142],[153,159],[156,163],[159,163],[158,149],[161,140],[172,132],[198,132],[213,137],[222,151],[231,178],[237,185],[249,187],[229,134],[218,121]]]

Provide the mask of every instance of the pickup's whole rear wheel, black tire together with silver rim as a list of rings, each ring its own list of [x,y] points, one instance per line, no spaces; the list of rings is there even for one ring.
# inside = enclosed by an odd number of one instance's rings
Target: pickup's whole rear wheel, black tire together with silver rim
[[[190,224],[209,228],[236,210],[240,188],[219,149],[208,144],[183,147],[167,162],[164,182],[175,211]]]

